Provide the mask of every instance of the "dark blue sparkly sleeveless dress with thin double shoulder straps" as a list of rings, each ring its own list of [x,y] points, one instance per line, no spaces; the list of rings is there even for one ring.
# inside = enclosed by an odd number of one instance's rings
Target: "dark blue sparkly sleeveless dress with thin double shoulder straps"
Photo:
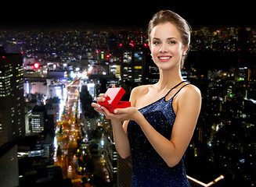
[[[171,88],[171,90],[184,82],[185,81],[178,83]],[[187,86],[188,84],[189,83],[184,86]],[[182,86],[175,95],[178,94],[184,86]],[[168,91],[168,94],[171,90]],[[172,108],[172,101],[175,95],[168,101],[165,101],[165,97],[168,96],[168,94],[158,101],[155,101],[144,108],[140,108],[139,111],[157,132],[165,138],[171,139],[171,130],[175,122],[175,111]],[[132,152],[132,187],[190,186],[189,181],[186,178],[186,171],[183,163],[185,154],[175,167],[170,168],[157,151],[153,149],[153,146],[135,121],[129,121],[127,132]]]

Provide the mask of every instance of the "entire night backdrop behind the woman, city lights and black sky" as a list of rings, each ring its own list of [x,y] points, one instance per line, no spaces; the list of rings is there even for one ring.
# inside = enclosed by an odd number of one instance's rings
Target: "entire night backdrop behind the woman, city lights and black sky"
[[[135,86],[157,83],[146,26],[160,9],[193,28],[182,69],[202,94],[186,151],[191,186],[256,185],[256,18],[252,2],[239,3],[6,2],[0,187],[130,186],[131,158],[118,156],[91,103],[113,84],[128,101]]]

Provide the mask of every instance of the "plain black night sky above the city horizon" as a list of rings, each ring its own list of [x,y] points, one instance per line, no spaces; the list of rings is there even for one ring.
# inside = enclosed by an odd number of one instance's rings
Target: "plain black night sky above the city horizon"
[[[177,2],[177,1],[176,1]],[[254,2],[246,1],[63,1],[6,2],[4,26],[136,26],[146,28],[153,14],[171,9],[193,26],[256,26]]]

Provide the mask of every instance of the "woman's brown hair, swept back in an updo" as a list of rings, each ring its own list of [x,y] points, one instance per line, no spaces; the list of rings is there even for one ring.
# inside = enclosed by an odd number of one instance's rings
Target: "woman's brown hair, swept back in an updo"
[[[149,42],[150,42],[150,34],[151,34],[151,31],[153,30],[153,27],[157,26],[160,23],[168,23],[168,22],[174,24],[177,27],[182,37],[182,44],[185,46],[189,45],[190,31],[191,31],[191,27],[189,26],[189,23],[185,19],[183,19],[181,16],[179,16],[177,13],[172,12],[171,10],[160,10],[150,20],[150,23],[148,26]],[[183,56],[181,67],[184,64],[185,58],[186,56]]]

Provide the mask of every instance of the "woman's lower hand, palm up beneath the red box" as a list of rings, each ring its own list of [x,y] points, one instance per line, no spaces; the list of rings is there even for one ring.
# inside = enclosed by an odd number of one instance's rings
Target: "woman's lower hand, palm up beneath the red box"
[[[117,108],[114,110],[114,113],[110,113],[106,108],[101,107],[103,109],[103,114],[106,118],[117,121],[126,121],[126,120],[134,120],[136,121],[142,113],[140,113],[137,108],[129,107],[129,108]]]

